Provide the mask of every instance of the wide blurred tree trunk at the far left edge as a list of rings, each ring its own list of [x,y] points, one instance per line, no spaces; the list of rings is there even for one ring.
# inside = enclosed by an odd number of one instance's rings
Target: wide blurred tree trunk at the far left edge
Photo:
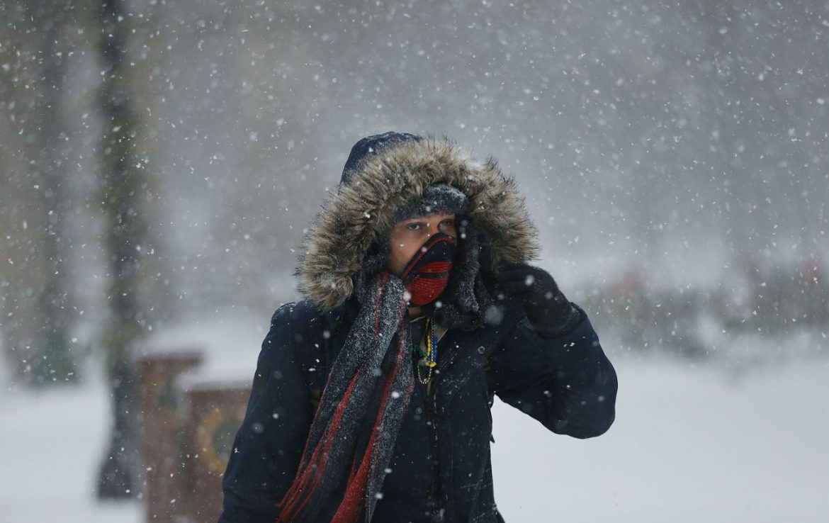
[[[3,271],[9,277],[2,278],[4,346],[12,380],[64,383],[77,377],[70,345],[70,202],[61,92],[68,73],[63,34],[70,18],[60,2],[41,0],[7,9],[4,32],[12,37],[3,43],[4,51],[11,51],[14,75],[2,90],[11,125],[0,136],[2,169],[9,173],[3,194],[17,198],[17,205],[4,206],[2,215],[8,242],[3,254],[10,266]]]

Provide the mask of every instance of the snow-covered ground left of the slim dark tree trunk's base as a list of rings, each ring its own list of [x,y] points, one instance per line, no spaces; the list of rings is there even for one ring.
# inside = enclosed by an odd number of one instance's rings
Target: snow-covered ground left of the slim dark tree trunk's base
[[[138,502],[95,500],[110,409],[103,380],[0,392],[0,523],[143,521]]]

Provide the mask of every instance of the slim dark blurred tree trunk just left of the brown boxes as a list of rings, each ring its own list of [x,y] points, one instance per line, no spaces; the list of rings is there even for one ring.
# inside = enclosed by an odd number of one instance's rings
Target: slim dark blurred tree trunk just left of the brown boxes
[[[135,495],[138,444],[134,424],[136,383],[133,343],[143,334],[146,318],[140,300],[141,250],[148,242],[142,212],[148,191],[136,151],[138,116],[133,110],[128,68],[129,27],[123,0],[105,0],[99,7],[99,56],[102,84],[99,104],[104,135],[99,151],[101,201],[107,233],[104,249],[109,265],[109,321],[104,329],[107,371],[112,387],[114,426],[109,450],[99,472],[101,498]]]

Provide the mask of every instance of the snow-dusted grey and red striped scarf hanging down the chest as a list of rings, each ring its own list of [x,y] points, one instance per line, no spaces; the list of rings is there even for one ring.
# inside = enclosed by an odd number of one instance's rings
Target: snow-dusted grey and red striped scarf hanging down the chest
[[[366,280],[277,521],[371,521],[414,375],[403,283]]]

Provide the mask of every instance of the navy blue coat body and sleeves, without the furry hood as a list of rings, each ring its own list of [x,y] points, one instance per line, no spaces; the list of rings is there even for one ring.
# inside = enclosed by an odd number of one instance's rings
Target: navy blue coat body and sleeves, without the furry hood
[[[433,393],[414,387],[372,521],[503,521],[492,492],[493,395],[554,433],[590,438],[610,427],[616,373],[575,307],[579,325],[553,339],[512,308],[497,326],[446,333]],[[221,523],[276,520],[355,317],[355,298],[325,314],[308,300],[274,313],[225,472]]]

